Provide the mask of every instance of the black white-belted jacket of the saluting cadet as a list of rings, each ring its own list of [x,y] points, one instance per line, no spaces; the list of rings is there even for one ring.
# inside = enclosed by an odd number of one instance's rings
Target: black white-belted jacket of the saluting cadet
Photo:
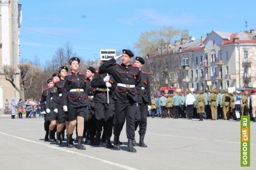
[[[116,86],[113,91],[113,98],[120,102],[133,101],[137,102],[141,89],[141,75],[138,67],[132,65],[116,64],[115,59],[109,59],[103,63],[99,70],[102,72],[110,73],[116,83],[135,85],[135,88]]]

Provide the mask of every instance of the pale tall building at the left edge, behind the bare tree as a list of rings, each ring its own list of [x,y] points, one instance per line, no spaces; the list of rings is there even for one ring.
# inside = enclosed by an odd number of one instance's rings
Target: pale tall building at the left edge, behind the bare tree
[[[21,5],[18,0],[0,0],[0,107],[4,107],[4,102],[12,98],[19,100],[17,92],[12,84],[5,80],[2,66],[19,64],[19,29],[22,21]],[[13,77],[14,83],[19,88],[19,69]],[[9,104],[10,107],[10,104]]]

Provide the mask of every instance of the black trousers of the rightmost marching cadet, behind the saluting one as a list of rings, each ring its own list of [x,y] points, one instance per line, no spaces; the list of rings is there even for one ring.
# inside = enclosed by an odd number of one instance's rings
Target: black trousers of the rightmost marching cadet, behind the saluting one
[[[147,130],[148,104],[142,102],[138,107],[140,107],[140,121],[135,121],[135,130],[137,130],[140,125],[139,134],[145,134]]]

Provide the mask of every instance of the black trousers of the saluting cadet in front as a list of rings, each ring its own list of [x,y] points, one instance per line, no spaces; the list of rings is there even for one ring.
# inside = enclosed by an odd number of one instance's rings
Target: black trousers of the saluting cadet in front
[[[115,127],[114,135],[119,137],[124,127],[126,119],[126,135],[128,139],[134,139],[135,136],[135,113],[136,113],[136,102],[127,101],[120,102],[115,101]]]

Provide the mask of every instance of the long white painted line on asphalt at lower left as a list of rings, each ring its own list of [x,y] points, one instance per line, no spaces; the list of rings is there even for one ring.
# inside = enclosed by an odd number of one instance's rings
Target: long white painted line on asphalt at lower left
[[[51,145],[49,145],[49,144],[38,143],[38,142],[36,142],[36,141],[31,141],[31,140],[29,140],[29,139],[24,139],[24,138],[22,138],[22,137],[18,137],[18,136],[15,136],[15,135],[5,134],[5,133],[3,133],[3,132],[0,132],[0,134],[8,135],[8,136],[10,136],[10,137],[15,137],[15,138],[17,138],[17,139],[21,139],[21,140],[23,140],[23,141],[27,141],[27,142],[30,142],[30,143],[41,144],[41,145],[43,145],[43,146],[47,146],[47,147],[52,148],[52,149],[55,149],[55,150],[65,151],[65,152],[67,152],[67,153],[74,153],[74,154],[79,155],[79,156],[82,156],[82,157],[92,158],[92,159],[99,160],[100,162],[103,162],[103,163],[106,163],[106,164],[109,164],[109,165],[112,165],[112,166],[122,167],[122,168],[124,168],[124,169],[130,169],[130,170],[138,170],[138,169],[135,169],[135,168],[133,168],[133,167],[124,166],[124,165],[122,165],[122,164],[116,164],[115,162],[110,162],[110,161],[108,161],[108,160],[104,160],[104,159],[101,159],[101,158],[91,157],[91,156],[89,156],[89,155],[84,155],[84,154],[78,153],[78,152],[76,152],[76,151],[65,150],[65,149],[63,149],[63,148],[58,148],[58,147],[55,147],[55,146],[51,146]]]

